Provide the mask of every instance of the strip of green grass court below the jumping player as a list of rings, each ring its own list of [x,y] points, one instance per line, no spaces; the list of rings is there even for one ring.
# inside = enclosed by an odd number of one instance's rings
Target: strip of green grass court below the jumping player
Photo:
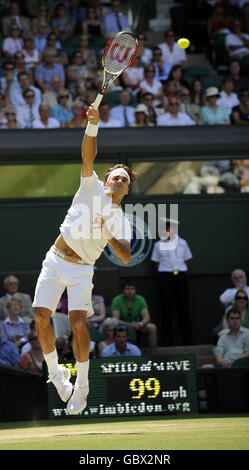
[[[249,416],[0,423],[0,450],[249,450]]]

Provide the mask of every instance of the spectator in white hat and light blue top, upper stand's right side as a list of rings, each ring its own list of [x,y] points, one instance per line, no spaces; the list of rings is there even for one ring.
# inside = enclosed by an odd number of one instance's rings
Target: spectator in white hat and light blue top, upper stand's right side
[[[206,105],[201,108],[202,117],[205,124],[209,126],[220,126],[231,124],[226,108],[218,106],[219,90],[216,87],[209,87],[206,90]]]

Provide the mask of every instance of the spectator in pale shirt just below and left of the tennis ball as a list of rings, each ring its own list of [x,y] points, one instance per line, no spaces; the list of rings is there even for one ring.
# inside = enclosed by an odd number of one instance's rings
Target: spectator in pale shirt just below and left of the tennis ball
[[[163,61],[168,65],[184,65],[187,62],[187,54],[175,41],[175,33],[168,29],[164,34],[164,42],[159,44],[163,53]]]

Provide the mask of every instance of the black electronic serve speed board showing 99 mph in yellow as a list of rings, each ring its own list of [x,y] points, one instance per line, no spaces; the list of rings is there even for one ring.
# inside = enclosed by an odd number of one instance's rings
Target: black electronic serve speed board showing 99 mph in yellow
[[[64,364],[75,382],[75,364]],[[194,354],[91,359],[87,407],[68,415],[54,386],[48,384],[50,418],[172,415],[197,412]]]

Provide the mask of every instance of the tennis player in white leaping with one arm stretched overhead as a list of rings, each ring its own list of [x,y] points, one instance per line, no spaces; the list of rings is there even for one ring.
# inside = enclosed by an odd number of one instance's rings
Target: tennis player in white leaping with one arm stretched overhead
[[[73,415],[84,410],[89,392],[90,336],[86,319],[93,314],[93,266],[107,243],[123,263],[130,260],[131,227],[121,202],[136,178],[133,170],[120,164],[108,170],[104,183],[99,180],[94,171],[99,112],[94,104],[88,108],[87,118],[80,186],[60,226],[60,235],[43,261],[33,302],[49,381],[64,402],[69,400],[67,410]],[[58,364],[50,322],[65,288],[78,371],[74,387],[70,370]]]

